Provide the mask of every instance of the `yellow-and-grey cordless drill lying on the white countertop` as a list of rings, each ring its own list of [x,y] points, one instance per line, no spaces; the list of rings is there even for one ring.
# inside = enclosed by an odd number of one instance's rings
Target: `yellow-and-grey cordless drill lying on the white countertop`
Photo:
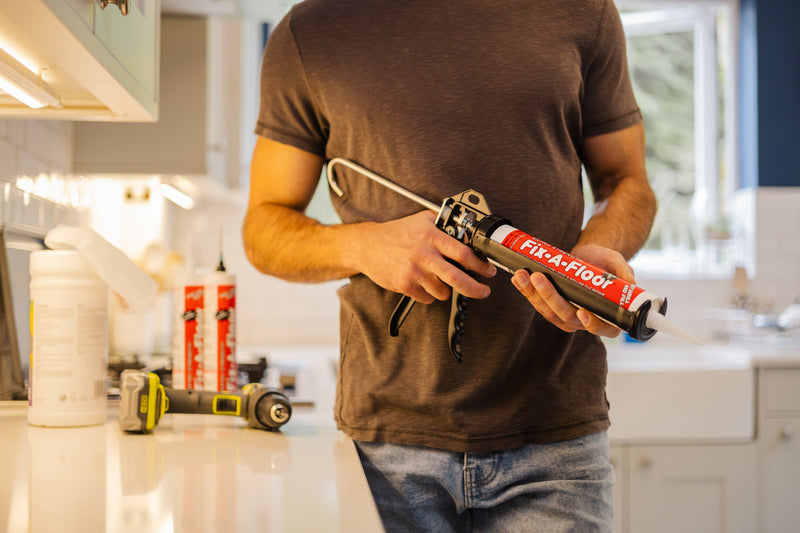
[[[277,431],[289,421],[292,405],[283,393],[261,383],[250,383],[235,392],[178,390],[164,387],[152,372],[122,372],[121,429],[150,432],[166,413],[241,416],[252,428]]]

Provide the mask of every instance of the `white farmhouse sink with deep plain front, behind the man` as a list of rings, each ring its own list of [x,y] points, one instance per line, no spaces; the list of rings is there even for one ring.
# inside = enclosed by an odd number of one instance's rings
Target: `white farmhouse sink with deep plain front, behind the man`
[[[755,371],[749,350],[677,343],[607,350],[612,441],[754,437]]]

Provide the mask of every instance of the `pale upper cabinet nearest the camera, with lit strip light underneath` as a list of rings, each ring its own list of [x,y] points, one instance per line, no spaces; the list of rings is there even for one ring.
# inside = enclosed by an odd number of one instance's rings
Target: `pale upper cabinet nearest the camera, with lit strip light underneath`
[[[156,121],[160,20],[161,0],[0,0],[0,67],[56,99],[32,109],[0,89],[0,116]]]

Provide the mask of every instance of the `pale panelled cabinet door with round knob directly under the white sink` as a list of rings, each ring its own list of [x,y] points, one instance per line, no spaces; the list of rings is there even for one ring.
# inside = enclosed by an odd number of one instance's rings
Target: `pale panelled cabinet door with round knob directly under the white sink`
[[[752,533],[756,446],[632,446],[629,533]]]

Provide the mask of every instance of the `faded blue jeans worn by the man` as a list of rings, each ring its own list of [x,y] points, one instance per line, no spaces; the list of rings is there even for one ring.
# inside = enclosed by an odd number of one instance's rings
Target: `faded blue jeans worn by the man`
[[[356,448],[388,532],[614,529],[605,432],[491,453]]]

